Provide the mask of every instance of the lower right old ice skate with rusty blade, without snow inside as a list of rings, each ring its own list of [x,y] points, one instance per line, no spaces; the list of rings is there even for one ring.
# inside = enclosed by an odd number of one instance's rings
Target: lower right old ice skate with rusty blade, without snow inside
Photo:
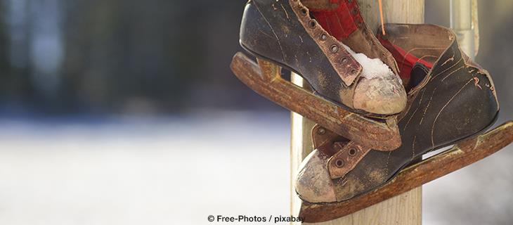
[[[316,150],[304,160],[296,183],[304,200],[301,215],[307,221],[356,212],[481,160],[513,141],[512,122],[482,134],[499,111],[493,81],[460,51],[453,32],[436,25],[386,28],[387,36],[379,38],[417,58],[410,72],[420,80],[411,81],[407,109],[398,116],[402,146],[374,150],[314,127]],[[425,153],[454,144],[441,155],[408,167]]]

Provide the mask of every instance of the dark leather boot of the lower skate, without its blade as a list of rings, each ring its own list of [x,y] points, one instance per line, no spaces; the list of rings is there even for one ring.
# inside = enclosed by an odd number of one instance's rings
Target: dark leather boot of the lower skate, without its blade
[[[460,51],[452,31],[436,25],[385,27],[380,39],[432,63],[430,70],[422,63],[411,70],[424,79],[409,91],[408,106],[398,115],[402,146],[371,150],[314,128],[317,149],[304,160],[295,184],[306,202],[340,202],[372,191],[423,154],[481,134],[495,122],[493,81]]]

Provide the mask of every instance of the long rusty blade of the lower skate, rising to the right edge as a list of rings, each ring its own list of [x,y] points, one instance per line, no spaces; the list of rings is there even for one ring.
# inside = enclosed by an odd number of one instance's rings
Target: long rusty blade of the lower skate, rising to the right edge
[[[512,141],[513,121],[509,121],[485,134],[462,141],[439,155],[403,169],[394,179],[370,193],[341,203],[303,203],[299,217],[303,217],[309,223],[344,217],[471,165],[498,152]]]

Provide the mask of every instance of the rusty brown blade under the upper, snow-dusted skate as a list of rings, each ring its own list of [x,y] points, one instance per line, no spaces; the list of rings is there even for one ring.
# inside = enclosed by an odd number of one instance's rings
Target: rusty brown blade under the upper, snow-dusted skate
[[[278,65],[265,60],[259,60],[257,65],[243,53],[235,54],[230,67],[235,76],[261,96],[340,136],[376,150],[394,150],[401,146],[395,117],[385,122],[351,113],[286,81],[280,76]]]

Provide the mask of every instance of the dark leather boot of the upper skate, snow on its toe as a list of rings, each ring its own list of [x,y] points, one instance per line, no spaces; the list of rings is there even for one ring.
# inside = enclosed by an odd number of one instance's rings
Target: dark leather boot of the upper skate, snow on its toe
[[[363,23],[356,1],[350,5],[351,9],[342,6],[351,18],[347,26],[352,32],[341,42],[299,0],[251,0],[242,18],[240,44],[257,58],[301,75],[320,96],[353,113],[371,117],[401,113],[406,93],[394,58]],[[369,57],[367,63],[358,63],[362,61],[349,48]],[[368,75],[377,68],[367,66],[369,62],[381,63],[389,72]]]

